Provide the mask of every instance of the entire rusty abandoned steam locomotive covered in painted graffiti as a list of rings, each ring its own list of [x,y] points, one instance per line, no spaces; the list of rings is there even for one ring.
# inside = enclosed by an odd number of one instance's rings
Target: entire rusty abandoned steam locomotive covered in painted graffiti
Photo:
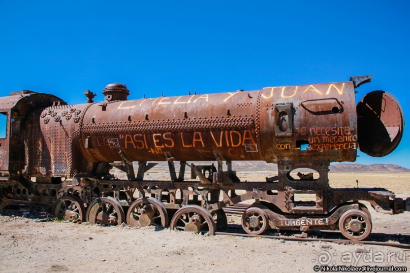
[[[48,206],[71,221],[213,234],[227,225],[223,208],[253,200],[241,219],[249,234],[270,225],[339,229],[363,240],[372,222],[359,200],[389,214],[410,207],[387,189],[328,183],[330,162],[355,161],[357,149],[384,156],[401,140],[404,119],[392,95],[373,91],[356,106],[355,89],[370,78],[137,100],[127,100],[125,85],[109,84],[104,101],[94,103],[87,90],[79,105],[12,92],[0,97],[0,207]],[[192,163],[209,160],[215,166]],[[277,163],[278,172],[241,182],[235,160]],[[144,179],[153,161],[168,162],[169,180]],[[110,174],[113,167],[128,179]],[[290,175],[301,168],[319,177]]]

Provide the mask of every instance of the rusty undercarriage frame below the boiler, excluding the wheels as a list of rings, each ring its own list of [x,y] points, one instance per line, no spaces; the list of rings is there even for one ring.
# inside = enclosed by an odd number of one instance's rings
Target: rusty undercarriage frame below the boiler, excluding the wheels
[[[182,162],[181,166],[185,164],[186,162]],[[146,162],[139,164],[140,172],[137,178],[140,179],[150,168],[143,168],[142,165],[146,166]],[[185,168],[181,167],[179,175],[176,176],[172,160],[169,161],[169,165],[171,181],[136,181],[135,176],[129,176],[134,180],[77,177],[57,184],[52,183],[58,181],[53,179],[46,180],[48,183],[33,182],[30,185],[27,184],[26,178],[7,183],[2,181],[0,182],[0,187],[3,188],[0,203],[2,206],[8,204],[51,206],[58,198],[74,196],[69,197],[69,200],[74,198],[74,201],[78,200],[78,207],[87,207],[87,204],[98,202],[99,198],[111,198],[107,200],[118,202],[116,211],[125,208],[124,211],[127,212],[127,207],[130,207],[135,200],[151,197],[162,204],[168,219],[168,214],[172,216],[179,209],[188,205],[199,206],[208,211],[209,215],[220,217],[223,213],[222,208],[252,200],[251,207],[254,209],[249,214],[254,217],[253,221],[263,223],[263,220],[255,220],[256,216],[254,216],[256,214],[260,217],[261,213],[258,210],[262,209],[271,227],[302,231],[337,229],[338,220],[345,213],[358,210],[367,211],[363,209],[364,205],[359,203],[359,200],[368,201],[376,211],[388,214],[403,212],[408,203],[408,200],[403,201],[401,198],[396,198],[392,192],[383,188],[331,188],[328,183],[329,165],[326,161],[295,164],[289,160],[280,160],[277,177],[267,178],[266,182],[240,182],[229,161],[226,171],[222,168],[222,161],[218,161],[217,169],[213,165],[195,166],[191,164],[192,178],[199,176],[199,181],[183,181]],[[301,180],[295,180],[290,176],[290,172],[294,169],[313,169],[313,166],[314,170],[319,173],[319,178],[316,180],[309,176],[307,178],[302,176]],[[208,177],[204,175],[207,171],[209,172]],[[309,195],[311,198],[309,201],[297,200],[295,197],[298,194]],[[118,224],[118,221],[125,221],[124,212],[121,213],[122,215],[112,219],[106,217],[104,223]],[[97,211],[93,215],[96,219],[102,217]],[[368,214],[368,217],[371,216]],[[162,226],[167,224],[162,224]]]

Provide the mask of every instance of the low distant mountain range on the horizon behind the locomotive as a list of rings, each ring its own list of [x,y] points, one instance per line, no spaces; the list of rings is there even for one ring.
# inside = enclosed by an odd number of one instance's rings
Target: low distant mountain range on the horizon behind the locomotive
[[[189,162],[192,163],[192,162]],[[209,165],[216,162],[193,162],[196,165]],[[159,162],[155,169],[168,168],[167,162]],[[175,169],[178,171],[179,162],[175,162]],[[226,165],[224,164],[224,170]],[[271,172],[277,170],[277,165],[273,163],[266,163],[264,161],[234,161],[232,162],[232,169],[242,172]],[[399,173],[410,172],[410,169],[394,165],[394,164],[371,164],[363,165],[357,163],[337,163],[330,165],[330,172],[334,173]]]

